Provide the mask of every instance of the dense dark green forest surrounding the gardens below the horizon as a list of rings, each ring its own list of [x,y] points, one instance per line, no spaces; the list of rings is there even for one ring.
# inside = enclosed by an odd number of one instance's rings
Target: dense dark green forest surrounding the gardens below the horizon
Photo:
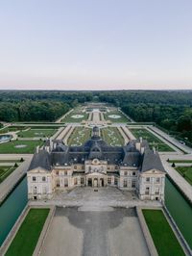
[[[192,142],[192,90],[1,90],[0,121],[55,121],[84,102],[107,102]]]

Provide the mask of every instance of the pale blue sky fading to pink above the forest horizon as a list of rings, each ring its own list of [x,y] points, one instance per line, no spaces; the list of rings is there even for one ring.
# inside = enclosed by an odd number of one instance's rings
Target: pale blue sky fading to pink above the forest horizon
[[[0,1],[0,90],[192,90],[192,0]]]

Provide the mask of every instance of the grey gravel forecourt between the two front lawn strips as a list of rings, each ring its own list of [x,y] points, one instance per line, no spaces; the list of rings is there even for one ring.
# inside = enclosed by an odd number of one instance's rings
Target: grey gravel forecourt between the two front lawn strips
[[[147,256],[133,208],[57,207],[43,256]]]

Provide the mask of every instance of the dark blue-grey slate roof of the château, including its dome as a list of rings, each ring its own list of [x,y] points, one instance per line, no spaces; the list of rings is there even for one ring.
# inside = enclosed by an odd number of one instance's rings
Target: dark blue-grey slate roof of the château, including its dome
[[[53,141],[54,149],[48,153],[45,149],[34,155],[29,169],[38,166],[51,170],[52,166],[71,166],[84,164],[85,160],[99,159],[108,161],[108,165],[135,166],[142,172],[152,168],[164,171],[158,153],[150,150],[147,141],[142,141],[145,147],[144,155],[136,149],[135,143],[130,141],[126,146],[110,146],[99,136],[92,136],[82,146],[66,146],[62,141]]]

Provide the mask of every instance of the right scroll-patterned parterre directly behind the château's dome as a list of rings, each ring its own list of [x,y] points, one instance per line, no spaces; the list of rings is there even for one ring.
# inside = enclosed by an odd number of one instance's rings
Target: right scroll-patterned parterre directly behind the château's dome
[[[121,146],[124,145],[124,139],[116,127],[108,127],[101,129],[101,136],[108,145]]]

